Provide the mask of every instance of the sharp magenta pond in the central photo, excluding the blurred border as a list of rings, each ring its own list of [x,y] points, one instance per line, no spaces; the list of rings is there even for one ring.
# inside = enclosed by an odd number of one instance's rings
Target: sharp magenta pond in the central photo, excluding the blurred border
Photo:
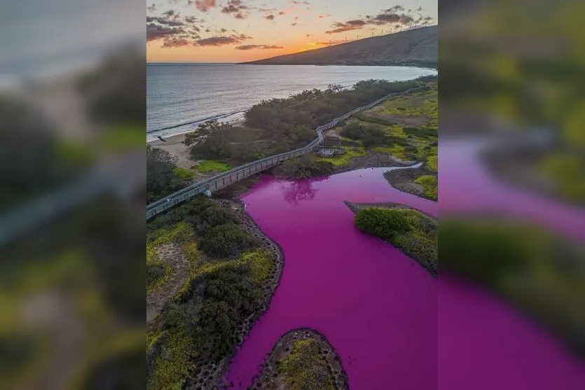
[[[280,337],[295,328],[324,334],[351,389],[436,388],[436,279],[404,253],[359,232],[343,203],[399,202],[436,215],[435,202],[401,193],[387,169],[316,181],[265,177],[242,200],[284,251],[280,286],[230,366],[245,389]]]

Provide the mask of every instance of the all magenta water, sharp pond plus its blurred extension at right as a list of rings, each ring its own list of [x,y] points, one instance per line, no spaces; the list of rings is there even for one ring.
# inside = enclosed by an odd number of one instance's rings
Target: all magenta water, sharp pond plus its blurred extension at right
[[[449,172],[439,181],[441,216],[502,213],[585,239],[583,209],[498,182],[477,160],[479,146],[441,141],[439,167]],[[437,214],[436,203],[390,188],[384,171],[266,177],[242,197],[283,247],[285,265],[268,312],[230,366],[235,388],[252,383],[281,335],[310,327],[336,349],[352,390],[585,389],[584,363],[500,299],[443,274],[437,282],[354,227],[343,200]]]

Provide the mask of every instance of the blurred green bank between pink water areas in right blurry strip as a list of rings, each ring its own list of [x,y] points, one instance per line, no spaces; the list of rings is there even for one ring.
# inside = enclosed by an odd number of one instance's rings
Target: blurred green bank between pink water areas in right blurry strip
[[[441,220],[441,272],[511,301],[585,354],[582,247],[518,221]]]

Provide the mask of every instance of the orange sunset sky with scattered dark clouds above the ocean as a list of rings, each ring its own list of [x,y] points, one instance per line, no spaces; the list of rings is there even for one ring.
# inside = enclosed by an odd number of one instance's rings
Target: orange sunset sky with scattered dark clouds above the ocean
[[[259,60],[437,23],[437,0],[147,0],[146,7],[148,62]]]

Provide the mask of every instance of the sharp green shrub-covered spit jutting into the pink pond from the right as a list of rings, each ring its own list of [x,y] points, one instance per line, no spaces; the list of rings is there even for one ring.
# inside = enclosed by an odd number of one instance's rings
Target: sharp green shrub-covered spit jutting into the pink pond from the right
[[[429,216],[413,209],[371,207],[358,211],[359,230],[392,242],[436,275],[437,224]]]

